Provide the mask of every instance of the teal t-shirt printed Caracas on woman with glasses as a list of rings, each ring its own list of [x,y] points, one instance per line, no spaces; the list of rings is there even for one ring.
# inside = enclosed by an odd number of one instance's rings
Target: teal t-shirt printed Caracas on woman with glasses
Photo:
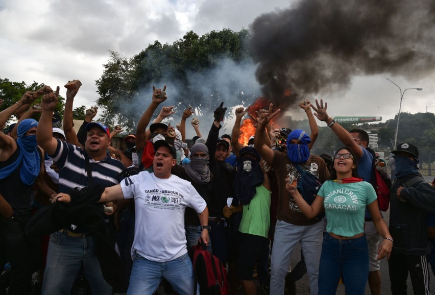
[[[344,237],[364,232],[366,205],[377,199],[373,186],[365,181],[337,183],[328,180],[318,195],[324,198],[326,231]]]

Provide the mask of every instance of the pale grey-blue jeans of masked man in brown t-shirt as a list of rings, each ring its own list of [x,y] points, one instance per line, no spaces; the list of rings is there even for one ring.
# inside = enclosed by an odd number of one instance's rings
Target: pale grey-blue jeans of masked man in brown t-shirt
[[[272,247],[270,293],[284,294],[285,276],[295,245],[301,244],[305,257],[311,295],[317,295],[323,224],[297,226],[278,220]]]

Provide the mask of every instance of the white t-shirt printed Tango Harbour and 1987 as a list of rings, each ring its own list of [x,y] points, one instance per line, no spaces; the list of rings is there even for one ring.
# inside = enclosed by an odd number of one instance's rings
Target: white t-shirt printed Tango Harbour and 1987
[[[137,254],[157,262],[187,253],[184,210],[201,213],[206,203],[190,182],[175,175],[157,178],[142,171],[120,182],[124,198],[134,198],[135,226],[132,257]]]

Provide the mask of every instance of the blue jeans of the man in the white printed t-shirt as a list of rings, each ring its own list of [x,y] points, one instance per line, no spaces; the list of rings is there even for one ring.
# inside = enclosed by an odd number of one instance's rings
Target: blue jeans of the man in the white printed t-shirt
[[[152,295],[165,278],[180,295],[194,294],[194,270],[186,254],[167,262],[148,260],[136,254],[127,295]]]

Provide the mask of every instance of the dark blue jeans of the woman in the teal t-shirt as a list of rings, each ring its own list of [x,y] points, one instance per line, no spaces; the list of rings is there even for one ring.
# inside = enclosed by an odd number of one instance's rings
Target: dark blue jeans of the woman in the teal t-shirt
[[[366,236],[339,240],[325,234],[319,268],[319,295],[335,294],[343,274],[346,294],[365,294],[369,276]]]

